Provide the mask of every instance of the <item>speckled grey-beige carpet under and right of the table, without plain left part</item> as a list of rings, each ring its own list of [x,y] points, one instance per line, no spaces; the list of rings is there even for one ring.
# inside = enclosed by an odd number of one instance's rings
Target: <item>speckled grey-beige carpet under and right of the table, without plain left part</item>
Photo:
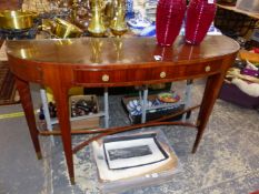
[[[203,84],[195,84],[192,103],[199,102]],[[111,125],[129,123],[120,104],[121,96],[110,98]],[[192,112],[191,120],[197,112]],[[259,114],[218,100],[208,123],[207,131],[196,154],[191,154],[196,131],[181,126],[160,126],[175,149],[182,172],[170,183],[121,191],[123,194],[246,194],[259,188]],[[147,129],[148,130],[148,129]],[[73,143],[86,136],[74,136]],[[69,185],[62,144],[54,139],[49,146],[48,160],[52,173],[48,187],[53,193],[98,194],[97,169],[90,146],[74,155],[76,186]],[[49,155],[50,154],[50,155]],[[127,188],[126,188],[127,190]]]

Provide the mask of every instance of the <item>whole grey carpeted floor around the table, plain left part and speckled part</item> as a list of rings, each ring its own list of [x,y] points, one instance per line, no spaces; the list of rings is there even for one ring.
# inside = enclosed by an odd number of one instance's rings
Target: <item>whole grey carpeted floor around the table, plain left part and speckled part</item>
[[[182,84],[180,84],[181,86]],[[179,86],[179,85],[178,85]],[[196,82],[192,104],[200,101],[203,84]],[[182,91],[182,89],[179,89]],[[38,91],[37,91],[38,92]],[[129,124],[119,95],[110,96],[111,125]],[[34,98],[38,100],[38,96]],[[36,102],[39,105],[39,102]],[[0,113],[20,110],[3,106]],[[192,112],[193,121],[197,111]],[[259,190],[259,114],[217,100],[203,139],[191,154],[196,131],[187,127],[161,126],[175,149],[182,171],[160,185],[138,187],[121,194],[245,194]],[[0,193],[99,194],[97,169],[91,149],[74,155],[76,182],[69,184],[60,137],[41,137],[43,160],[37,161],[24,118],[0,120]],[[87,136],[74,136],[73,143]],[[12,143],[12,144],[10,144]]]

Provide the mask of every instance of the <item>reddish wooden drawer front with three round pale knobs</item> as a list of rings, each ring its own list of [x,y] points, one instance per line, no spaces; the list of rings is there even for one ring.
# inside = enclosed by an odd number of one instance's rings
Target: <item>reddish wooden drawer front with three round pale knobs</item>
[[[167,65],[140,69],[117,70],[84,70],[73,71],[74,83],[126,83],[126,82],[152,82],[162,80],[196,78],[212,74],[220,71],[221,61],[202,62],[187,65]]]

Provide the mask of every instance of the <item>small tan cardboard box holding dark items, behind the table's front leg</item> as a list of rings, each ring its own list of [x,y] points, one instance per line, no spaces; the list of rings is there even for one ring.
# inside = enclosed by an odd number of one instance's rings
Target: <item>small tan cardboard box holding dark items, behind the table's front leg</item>
[[[99,104],[98,99],[96,95],[71,95],[69,98],[69,110],[71,115],[71,102],[72,101],[79,101],[79,100],[86,100],[90,101],[93,99],[93,102],[97,104],[97,110],[99,112]],[[100,126],[100,116],[94,116],[94,114],[91,115],[91,118],[86,116],[74,116],[72,118],[73,121],[71,121],[71,129],[72,130],[82,130],[82,129],[96,129]]]

